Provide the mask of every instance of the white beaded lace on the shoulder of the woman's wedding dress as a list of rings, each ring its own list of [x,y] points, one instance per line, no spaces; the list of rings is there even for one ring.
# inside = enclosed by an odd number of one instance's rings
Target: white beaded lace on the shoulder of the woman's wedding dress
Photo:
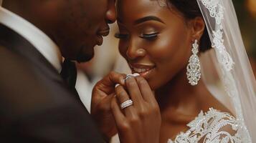
[[[200,112],[194,121],[187,124],[190,129],[181,132],[174,142],[169,139],[168,143],[242,143],[242,134],[245,130],[240,122],[228,113],[218,112],[216,109],[209,109],[207,113]],[[223,127],[230,127],[234,135],[225,132]]]

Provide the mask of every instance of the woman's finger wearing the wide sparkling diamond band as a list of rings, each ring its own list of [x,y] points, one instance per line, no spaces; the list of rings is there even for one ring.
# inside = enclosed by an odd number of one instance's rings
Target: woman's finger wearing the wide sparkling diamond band
[[[120,104],[130,99],[129,95],[121,85],[119,85],[118,87],[115,87],[115,94]],[[128,115],[128,116],[133,115],[133,111],[134,111],[133,104],[123,109],[123,112],[125,113],[125,115]]]

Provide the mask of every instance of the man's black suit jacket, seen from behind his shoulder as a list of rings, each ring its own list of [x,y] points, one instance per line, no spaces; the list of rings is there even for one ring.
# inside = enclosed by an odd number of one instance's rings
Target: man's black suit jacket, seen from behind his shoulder
[[[0,24],[0,142],[103,142],[90,114],[26,39]]]

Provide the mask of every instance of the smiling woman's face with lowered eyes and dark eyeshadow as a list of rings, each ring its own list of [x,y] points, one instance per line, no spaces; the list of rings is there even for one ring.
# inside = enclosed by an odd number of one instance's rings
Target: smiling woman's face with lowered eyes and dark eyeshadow
[[[179,11],[152,0],[118,1],[120,54],[152,89],[171,81],[191,55],[192,27]]]

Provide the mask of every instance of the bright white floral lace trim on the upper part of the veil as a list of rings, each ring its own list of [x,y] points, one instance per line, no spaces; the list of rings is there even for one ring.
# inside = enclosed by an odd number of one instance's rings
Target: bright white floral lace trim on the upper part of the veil
[[[212,31],[212,47],[217,50],[219,62],[224,66],[224,69],[230,71],[234,64],[232,57],[227,52],[223,40],[224,7],[219,0],[201,0],[202,4],[209,10],[210,16],[215,19],[215,31]]]

